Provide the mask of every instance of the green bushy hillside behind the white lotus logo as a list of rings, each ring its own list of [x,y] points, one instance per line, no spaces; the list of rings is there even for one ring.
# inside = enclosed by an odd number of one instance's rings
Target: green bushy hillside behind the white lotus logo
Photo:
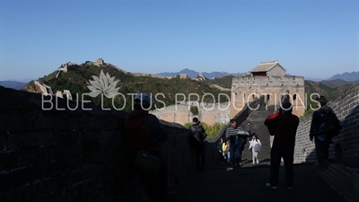
[[[153,94],[153,97],[156,93],[162,93],[157,97],[158,101],[156,104],[159,108],[162,108],[164,105],[167,106],[174,104],[175,101],[188,101],[188,99],[191,101],[196,101],[196,95],[191,95],[190,98],[188,97],[190,93],[198,94],[199,101],[203,100],[209,102],[214,101],[213,97],[209,95],[204,97],[203,95],[205,93],[213,94],[215,101],[217,101],[219,93],[229,94],[229,92],[222,92],[218,89],[209,87],[206,83],[195,81],[189,78],[180,79],[180,77],[175,77],[167,79],[152,76],[136,76],[131,73],[123,72],[113,66],[107,65],[77,65],[73,66],[71,71],[66,73],[61,72],[56,79],[54,79],[54,77],[57,75],[57,71],[42,77],[39,80],[42,83],[50,86],[53,92],[69,90],[74,100],[81,101],[83,93],[91,92],[87,87],[90,85],[89,80],[93,81],[93,76],[98,76],[101,78],[101,71],[104,75],[108,74],[109,77],[114,77],[114,81],[118,81],[116,85],[118,92],[122,93],[126,99],[124,100],[123,97],[116,96],[113,99],[113,104],[112,99],[107,99],[104,97],[102,102],[103,106],[106,108],[114,106],[116,108],[120,108],[125,106],[124,110],[130,110],[132,108],[132,94],[137,92],[149,92]],[[39,92],[39,87],[37,87],[34,82],[31,82],[24,87],[24,90],[28,92]],[[77,99],[76,95],[78,96]],[[184,96],[186,98],[184,98]],[[225,100],[224,96],[222,96],[221,99],[221,101],[227,101]],[[95,98],[86,97],[85,100],[93,101],[95,104],[101,104],[101,96],[97,96]]]

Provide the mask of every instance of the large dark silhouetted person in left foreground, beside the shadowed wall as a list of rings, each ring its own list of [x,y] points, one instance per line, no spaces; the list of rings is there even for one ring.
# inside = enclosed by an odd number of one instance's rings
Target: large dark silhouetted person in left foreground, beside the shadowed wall
[[[131,171],[138,173],[144,190],[152,201],[168,201],[168,168],[162,154],[162,143],[168,138],[168,135],[162,128],[159,119],[148,113],[151,106],[151,97],[144,92],[138,93],[134,99],[135,110],[131,111],[125,119],[130,168]],[[141,157],[139,154],[142,151],[151,155],[152,159],[159,159],[159,169],[154,174],[149,174],[136,167],[136,162],[141,163],[136,158]]]

